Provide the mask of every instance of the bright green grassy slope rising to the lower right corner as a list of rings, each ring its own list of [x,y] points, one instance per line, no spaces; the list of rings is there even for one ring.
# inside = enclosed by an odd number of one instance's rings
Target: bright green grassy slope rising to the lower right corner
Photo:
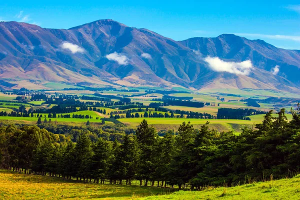
[[[299,199],[300,176],[290,179],[254,182],[235,187],[208,187],[202,191],[177,191],[142,199]]]

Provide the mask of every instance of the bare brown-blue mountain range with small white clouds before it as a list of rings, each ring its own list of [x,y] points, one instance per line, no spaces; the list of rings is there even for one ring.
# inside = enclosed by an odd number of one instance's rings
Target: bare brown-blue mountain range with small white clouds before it
[[[300,50],[234,34],[175,41],[111,19],[69,29],[0,22],[0,86],[252,88],[300,93]]]

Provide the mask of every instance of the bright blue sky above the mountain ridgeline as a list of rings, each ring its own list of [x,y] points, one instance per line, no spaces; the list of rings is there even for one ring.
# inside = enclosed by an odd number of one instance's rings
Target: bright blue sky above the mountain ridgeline
[[[111,18],[175,40],[235,33],[277,47],[300,49],[299,0],[10,0],[0,3],[0,21],[70,28]]]

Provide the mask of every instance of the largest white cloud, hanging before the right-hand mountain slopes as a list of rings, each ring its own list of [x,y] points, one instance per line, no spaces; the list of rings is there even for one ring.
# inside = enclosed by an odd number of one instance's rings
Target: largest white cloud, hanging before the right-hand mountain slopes
[[[208,66],[214,71],[226,71],[229,73],[248,75],[253,68],[250,60],[242,62],[226,62],[218,57],[207,56],[204,61],[208,63]]]

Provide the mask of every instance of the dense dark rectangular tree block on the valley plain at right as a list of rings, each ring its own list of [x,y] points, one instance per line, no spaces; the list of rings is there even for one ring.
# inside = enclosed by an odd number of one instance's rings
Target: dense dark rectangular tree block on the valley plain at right
[[[251,120],[248,116],[254,114],[265,114],[265,111],[259,111],[256,109],[242,109],[242,108],[218,108],[217,119],[244,119]]]

